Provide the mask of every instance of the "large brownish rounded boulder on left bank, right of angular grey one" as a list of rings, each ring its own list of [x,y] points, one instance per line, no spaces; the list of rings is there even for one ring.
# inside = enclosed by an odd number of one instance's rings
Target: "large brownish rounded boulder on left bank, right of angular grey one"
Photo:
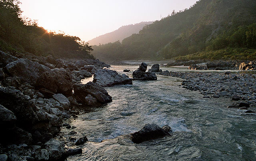
[[[38,89],[45,88],[53,93],[72,96],[72,75],[63,68],[42,73],[36,83]]]

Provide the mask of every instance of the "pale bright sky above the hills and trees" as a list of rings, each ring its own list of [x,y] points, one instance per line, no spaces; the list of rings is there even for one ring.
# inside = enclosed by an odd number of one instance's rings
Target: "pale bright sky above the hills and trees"
[[[48,31],[63,31],[83,41],[121,26],[160,20],[172,10],[189,8],[197,0],[20,0],[22,16],[38,20]]]

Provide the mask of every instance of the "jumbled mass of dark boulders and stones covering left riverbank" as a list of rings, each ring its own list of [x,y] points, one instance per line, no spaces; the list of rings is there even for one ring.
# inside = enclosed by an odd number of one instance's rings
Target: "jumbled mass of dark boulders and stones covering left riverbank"
[[[82,149],[66,151],[65,144],[53,138],[63,119],[77,117],[73,107],[112,101],[102,86],[77,84],[107,66],[96,59],[64,60],[32,54],[21,54],[19,59],[0,51],[0,157],[58,160],[81,153]]]

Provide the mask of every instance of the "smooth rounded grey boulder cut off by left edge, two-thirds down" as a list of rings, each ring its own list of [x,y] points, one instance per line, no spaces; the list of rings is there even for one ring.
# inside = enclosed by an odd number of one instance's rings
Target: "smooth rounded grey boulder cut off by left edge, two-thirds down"
[[[0,104],[0,126],[13,127],[16,122],[16,116],[14,113]]]

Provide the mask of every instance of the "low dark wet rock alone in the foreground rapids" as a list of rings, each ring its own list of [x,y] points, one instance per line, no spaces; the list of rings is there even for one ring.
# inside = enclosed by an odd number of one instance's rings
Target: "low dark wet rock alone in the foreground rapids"
[[[134,143],[142,143],[143,141],[156,139],[170,135],[163,128],[156,124],[146,124],[140,131],[131,134],[131,139]]]

